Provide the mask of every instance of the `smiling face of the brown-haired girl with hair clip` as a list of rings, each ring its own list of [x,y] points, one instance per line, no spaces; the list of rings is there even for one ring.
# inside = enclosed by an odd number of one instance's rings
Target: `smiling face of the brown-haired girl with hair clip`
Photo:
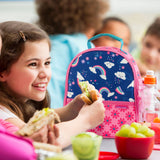
[[[9,89],[23,101],[45,98],[51,78],[50,51],[46,40],[25,42],[25,51],[3,78]]]

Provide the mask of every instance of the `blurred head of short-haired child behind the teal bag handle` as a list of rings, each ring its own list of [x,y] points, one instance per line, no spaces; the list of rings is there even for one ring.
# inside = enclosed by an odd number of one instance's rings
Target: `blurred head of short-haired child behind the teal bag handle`
[[[131,42],[131,31],[128,24],[118,17],[107,17],[103,21],[102,28],[96,33],[109,33],[123,39],[123,50],[129,51],[129,45]],[[110,46],[120,48],[121,43],[108,36],[100,37],[92,41],[95,46]]]

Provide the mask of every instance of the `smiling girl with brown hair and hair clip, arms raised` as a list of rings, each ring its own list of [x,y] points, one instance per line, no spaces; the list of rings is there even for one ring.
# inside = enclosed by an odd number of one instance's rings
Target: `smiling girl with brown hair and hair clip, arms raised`
[[[3,22],[0,29],[0,119],[21,128],[36,110],[50,107],[50,40],[43,30],[25,22]],[[78,95],[55,112],[61,119],[55,124],[57,129],[44,126],[48,134],[37,141],[53,144],[56,139],[64,148],[71,143],[72,136],[102,123],[105,109],[101,97],[87,106]]]

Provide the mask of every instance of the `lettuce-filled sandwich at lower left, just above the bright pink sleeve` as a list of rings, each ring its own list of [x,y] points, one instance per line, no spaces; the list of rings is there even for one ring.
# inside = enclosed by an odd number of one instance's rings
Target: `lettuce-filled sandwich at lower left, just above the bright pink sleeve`
[[[60,122],[60,119],[54,109],[44,108],[36,111],[28,123],[19,129],[17,133],[21,136],[30,136],[34,132],[40,130],[43,126],[50,125],[53,127],[55,121]]]

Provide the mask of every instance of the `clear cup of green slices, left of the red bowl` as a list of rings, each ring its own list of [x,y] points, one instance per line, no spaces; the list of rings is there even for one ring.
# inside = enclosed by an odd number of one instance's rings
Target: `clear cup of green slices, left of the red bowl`
[[[98,160],[102,136],[93,132],[80,133],[72,138],[72,148],[79,160]]]

